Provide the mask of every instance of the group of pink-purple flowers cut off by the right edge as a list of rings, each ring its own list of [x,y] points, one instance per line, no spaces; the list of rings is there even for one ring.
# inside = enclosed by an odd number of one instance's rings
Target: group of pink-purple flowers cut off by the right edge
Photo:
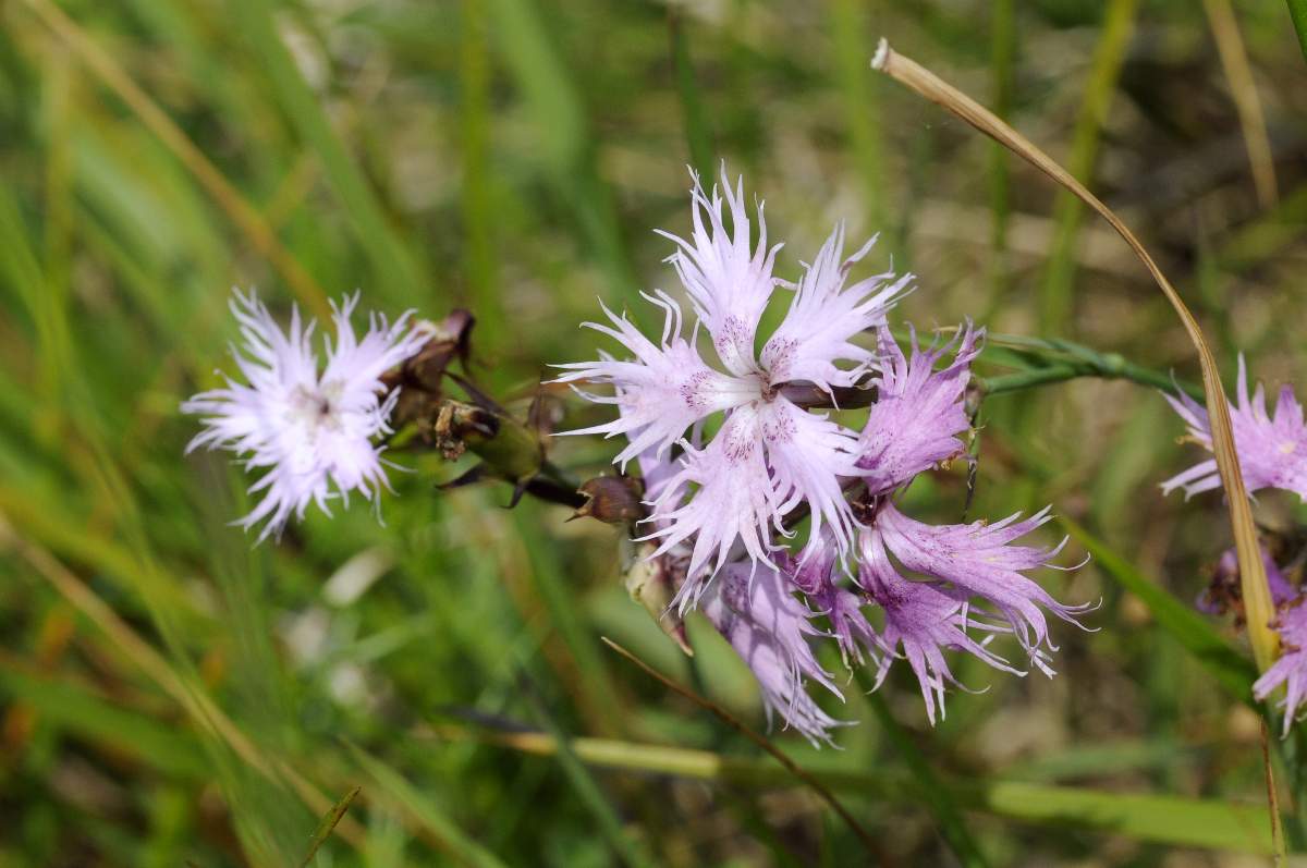
[[[1266,392],[1261,383],[1257,383],[1252,397],[1248,396],[1248,371],[1240,356],[1235,397],[1236,404],[1230,404],[1230,422],[1239,469],[1248,493],[1274,488],[1307,498],[1307,424],[1303,422],[1303,408],[1294,397],[1293,388],[1281,387],[1274,414],[1268,413]],[[1179,397],[1167,395],[1166,400],[1184,420],[1189,438],[1212,451],[1212,424],[1206,408],[1183,393]],[[1185,498],[1221,488],[1216,460],[1201,461],[1162,484],[1165,494],[1178,488],[1184,489]],[[1277,607],[1270,626],[1280,634],[1281,656],[1257,678],[1252,692],[1257,699],[1266,699],[1281,685],[1286,688],[1281,706],[1285,709],[1283,733],[1287,736],[1289,727],[1307,701],[1307,607],[1303,605],[1307,595],[1299,593],[1265,549],[1263,562],[1272,601]],[[1223,576],[1236,574],[1234,552],[1226,552],[1217,567],[1217,584],[1222,583]],[[1226,583],[1230,580],[1225,578]],[[1213,601],[1202,603],[1206,607]]]

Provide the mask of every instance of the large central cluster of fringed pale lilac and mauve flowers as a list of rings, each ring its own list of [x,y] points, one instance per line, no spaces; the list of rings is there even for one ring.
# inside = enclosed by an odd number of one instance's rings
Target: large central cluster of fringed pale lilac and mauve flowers
[[[769,716],[813,743],[830,741],[840,722],[808,685],[843,698],[814,652],[821,639],[834,641],[846,665],[874,667],[877,684],[894,660],[907,660],[932,723],[944,715],[946,686],[961,686],[945,651],[1023,675],[989,647],[1006,633],[1030,665],[1052,675],[1047,614],[1078,624],[1087,607],[1057,603],[1026,575],[1061,548],[1016,545],[1047,510],[931,526],[894,502],[916,475],[965,454],[965,392],[983,331],[967,324],[927,349],[914,335],[904,353],[886,314],[912,276],[850,277],[874,238],[846,258],[836,226],[799,281],[786,281],[762,207],[752,246],[742,183],[723,182],[725,193],[710,195],[695,178],[689,239],[661,233],[674,243],[669,261],[693,326],[659,290],[646,295],[664,312],[657,341],[605,309],[608,323],[587,326],[616,340],[623,358],[561,366],[561,382],[612,390],[578,388],[617,417],[569,433],[626,438],[614,463],[639,460],[650,507],[643,539],[656,541],[650,557],[680,565],[673,607],[698,607],[752,668]],[[778,293],[789,293],[788,310],[759,341]],[[701,328],[715,359],[699,352]],[[873,346],[855,342],[863,335]],[[857,430],[792,401],[787,386],[796,383],[833,407],[848,388],[876,388],[877,400]],[[802,514],[809,541],[795,556],[786,542]]]

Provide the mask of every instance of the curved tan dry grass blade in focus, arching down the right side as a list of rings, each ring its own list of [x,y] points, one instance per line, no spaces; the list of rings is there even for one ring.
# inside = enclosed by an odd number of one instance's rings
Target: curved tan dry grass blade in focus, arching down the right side
[[[1129,244],[1134,255],[1148,268],[1149,275],[1153,276],[1166,299],[1171,302],[1171,307],[1175,309],[1176,315],[1184,324],[1184,331],[1188,332],[1189,340],[1199,353],[1199,363],[1202,369],[1202,391],[1206,395],[1208,414],[1212,420],[1212,446],[1216,452],[1217,468],[1221,472],[1221,484],[1225,488],[1226,501],[1230,506],[1230,526],[1234,533],[1235,549],[1239,554],[1239,575],[1242,576],[1243,599],[1248,613],[1248,639],[1252,643],[1257,668],[1265,671],[1274,661],[1280,647],[1280,639],[1270,629],[1274,607],[1270,604],[1270,588],[1266,586],[1266,573],[1261,563],[1257,531],[1252,523],[1248,494],[1243,485],[1243,475],[1239,472],[1239,458],[1234,448],[1234,430],[1230,426],[1230,407],[1226,401],[1225,390],[1221,387],[1221,373],[1217,369],[1216,358],[1212,356],[1206,340],[1202,337],[1202,329],[1199,327],[1197,320],[1193,319],[1193,314],[1185,307],[1180,294],[1171,286],[1166,275],[1162,273],[1162,269],[1158,268],[1153,256],[1144,248],[1144,244],[1134,237],[1134,233],[1121,222],[1121,218],[1067,173],[1065,169],[1053,162],[1048,154],[995,116],[993,112],[941,80],[929,69],[910,58],[895,54],[885,39],[881,39],[876,50],[876,56],[872,59],[872,68],[884,72],[899,84],[906,85],[931,102],[953,112],[1023,158],[1052,180],[1076,193],[1086,205],[1097,210],[1103,220],[1111,224],[1112,229]]]

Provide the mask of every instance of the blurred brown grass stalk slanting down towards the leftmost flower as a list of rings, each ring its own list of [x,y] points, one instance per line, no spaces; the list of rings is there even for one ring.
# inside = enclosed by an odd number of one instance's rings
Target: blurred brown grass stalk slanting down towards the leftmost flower
[[[146,129],[158,136],[159,141],[171,150],[182,165],[195,175],[213,200],[226,212],[240,231],[260,254],[268,258],[273,267],[281,272],[282,278],[315,316],[331,318],[331,307],[327,305],[327,294],[312,278],[312,276],[299,264],[299,260],[281,243],[272,226],[263,214],[251,205],[231,184],[218,167],[204,156],[193,141],[178,127],[167,112],[159,108],[150,97],[132,81],[131,76],[118,65],[118,63],[95,44],[77,24],[69,18],[59,7],[50,0],[27,0],[27,7],[39,17],[46,26],[63,39],[73,54],[85,63],[95,77],[110,90],[118,94],[119,99],[127,103]]]

